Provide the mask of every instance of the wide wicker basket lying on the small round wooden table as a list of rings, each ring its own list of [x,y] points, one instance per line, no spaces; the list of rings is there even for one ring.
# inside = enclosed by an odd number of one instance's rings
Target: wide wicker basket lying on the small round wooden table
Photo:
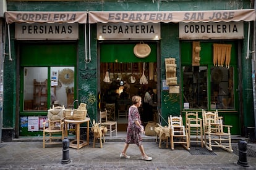
[[[87,110],[77,110],[77,109],[67,108],[64,111],[65,118],[69,120],[84,120],[86,118],[86,115],[87,115]]]

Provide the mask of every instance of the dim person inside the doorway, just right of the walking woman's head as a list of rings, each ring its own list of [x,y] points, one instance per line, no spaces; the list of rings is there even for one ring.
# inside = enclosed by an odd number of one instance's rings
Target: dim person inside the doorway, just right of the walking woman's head
[[[153,89],[148,87],[143,102],[143,121],[153,120]]]

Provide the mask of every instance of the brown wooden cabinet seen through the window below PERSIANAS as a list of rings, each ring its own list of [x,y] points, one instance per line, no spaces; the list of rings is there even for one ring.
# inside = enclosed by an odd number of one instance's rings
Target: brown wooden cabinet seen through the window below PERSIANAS
[[[47,110],[47,79],[42,82],[34,79],[33,107],[34,110]]]

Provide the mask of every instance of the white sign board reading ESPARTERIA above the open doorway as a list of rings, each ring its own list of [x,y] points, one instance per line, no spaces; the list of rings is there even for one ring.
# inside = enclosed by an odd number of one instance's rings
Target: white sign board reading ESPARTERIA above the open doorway
[[[98,39],[159,39],[160,35],[160,23],[97,23]]]

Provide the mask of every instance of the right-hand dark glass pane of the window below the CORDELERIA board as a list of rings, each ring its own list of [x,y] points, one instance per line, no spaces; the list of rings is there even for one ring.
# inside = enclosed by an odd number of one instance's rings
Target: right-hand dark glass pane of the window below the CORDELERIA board
[[[233,70],[233,67],[211,67],[211,109],[234,108]]]

